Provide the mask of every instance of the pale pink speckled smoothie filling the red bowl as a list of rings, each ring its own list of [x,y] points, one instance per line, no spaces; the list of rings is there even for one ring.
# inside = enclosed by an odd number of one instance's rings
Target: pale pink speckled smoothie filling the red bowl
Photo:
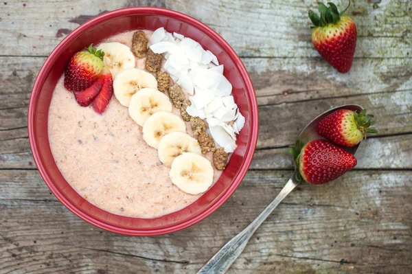
[[[133,32],[125,32],[104,42],[130,47],[132,36]],[[145,62],[136,59],[140,69]],[[186,127],[192,135],[190,124]],[[50,148],[60,172],[78,194],[107,212],[139,218],[170,214],[196,201],[201,194],[187,194],[173,185],[170,168],[162,165],[141,130],[114,95],[99,115],[78,105],[63,86],[63,77],[58,81],[49,108]],[[211,160],[211,152],[205,156]],[[214,170],[214,182],[221,173]]]

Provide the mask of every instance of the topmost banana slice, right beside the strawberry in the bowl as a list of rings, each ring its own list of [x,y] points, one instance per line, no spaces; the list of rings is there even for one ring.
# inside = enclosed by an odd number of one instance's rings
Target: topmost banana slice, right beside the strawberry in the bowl
[[[108,67],[113,77],[123,69],[130,69],[136,65],[135,56],[130,48],[122,43],[102,43],[98,49],[104,52],[104,65]]]

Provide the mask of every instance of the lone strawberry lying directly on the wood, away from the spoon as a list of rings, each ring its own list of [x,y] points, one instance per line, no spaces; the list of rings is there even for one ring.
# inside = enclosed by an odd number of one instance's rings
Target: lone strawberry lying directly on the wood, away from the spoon
[[[349,2],[350,4],[350,2]],[[346,73],[352,67],[356,48],[356,25],[343,12],[338,11],[334,3],[328,7],[319,3],[320,17],[309,10],[309,18],[314,25],[312,43],[319,54],[329,62],[332,67],[341,73]]]

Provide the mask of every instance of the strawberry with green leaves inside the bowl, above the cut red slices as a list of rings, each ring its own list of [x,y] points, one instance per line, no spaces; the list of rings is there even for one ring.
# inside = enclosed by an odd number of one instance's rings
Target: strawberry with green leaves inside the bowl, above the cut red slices
[[[65,71],[65,88],[69,91],[84,91],[103,73],[104,52],[93,45],[71,57]]]

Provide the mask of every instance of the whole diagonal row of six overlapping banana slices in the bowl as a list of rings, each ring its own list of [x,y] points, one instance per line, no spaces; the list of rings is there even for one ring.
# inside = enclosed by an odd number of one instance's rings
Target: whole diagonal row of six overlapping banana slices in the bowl
[[[116,99],[143,127],[144,141],[158,149],[160,161],[170,168],[172,183],[189,194],[209,189],[214,169],[201,155],[198,141],[186,133],[183,119],[172,113],[168,96],[157,90],[155,76],[135,68],[135,56],[126,45],[102,43],[98,49],[105,53],[104,64],[113,75]]]

